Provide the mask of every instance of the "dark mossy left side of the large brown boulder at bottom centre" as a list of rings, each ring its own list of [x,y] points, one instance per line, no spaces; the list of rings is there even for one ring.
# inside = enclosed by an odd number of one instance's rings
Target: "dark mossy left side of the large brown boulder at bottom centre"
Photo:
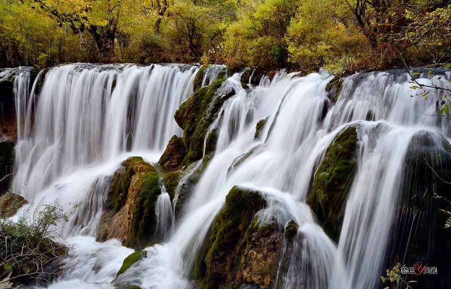
[[[261,193],[252,189],[234,186],[225,197],[224,207],[213,220],[210,227],[208,245],[202,252],[205,257],[205,278],[203,284],[215,285],[230,274],[229,267],[235,260],[237,246],[254,219],[255,213],[264,208],[266,200]],[[201,265],[198,267],[202,267]],[[213,283],[212,283],[213,282]],[[208,286],[200,286],[205,288]]]

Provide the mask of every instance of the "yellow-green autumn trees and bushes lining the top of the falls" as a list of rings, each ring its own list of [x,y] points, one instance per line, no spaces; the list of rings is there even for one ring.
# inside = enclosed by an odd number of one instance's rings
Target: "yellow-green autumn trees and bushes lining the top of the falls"
[[[451,0],[0,0],[0,67],[448,67]]]

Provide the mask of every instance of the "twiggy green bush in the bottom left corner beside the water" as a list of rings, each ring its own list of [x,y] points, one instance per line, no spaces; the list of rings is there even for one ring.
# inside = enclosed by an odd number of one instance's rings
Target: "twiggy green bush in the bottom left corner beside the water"
[[[27,206],[17,221],[0,218],[0,287],[8,282],[29,284],[51,279],[60,271],[55,266],[67,254],[56,225],[68,220],[56,203],[44,205],[36,217]]]

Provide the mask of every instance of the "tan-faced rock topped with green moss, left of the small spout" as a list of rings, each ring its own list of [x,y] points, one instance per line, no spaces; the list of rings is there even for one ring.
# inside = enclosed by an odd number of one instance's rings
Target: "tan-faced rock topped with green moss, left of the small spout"
[[[130,157],[114,173],[96,239],[119,239],[142,248],[155,230],[155,202],[161,193],[159,176],[141,157]]]

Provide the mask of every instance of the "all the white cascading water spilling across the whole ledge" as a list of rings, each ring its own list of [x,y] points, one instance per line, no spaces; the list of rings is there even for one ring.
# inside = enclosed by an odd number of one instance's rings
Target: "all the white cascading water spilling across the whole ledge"
[[[172,116],[192,93],[196,70],[68,65],[47,72],[34,102],[34,131],[17,144],[19,173],[14,185],[20,187],[28,178],[28,197],[35,198],[37,207],[54,200],[69,206],[83,196],[83,206],[66,228],[69,242],[81,249],[66,265],[88,262],[52,288],[112,286],[120,262],[131,250],[114,240],[98,243],[78,235],[95,234],[108,177],[121,160],[141,155],[154,163],[169,138],[181,135]],[[387,224],[396,213],[411,140],[427,132],[441,148],[443,140],[449,142],[451,125],[428,116],[435,113],[436,97],[412,98],[408,74],[399,70],[346,78],[336,104],[327,96],[326,84],[332,79],[328,73],[291,77],[282,71],[248,90],[239,74],[225,82],[221,89],[233,90],[234,96],[224,102],[208,130],[217,131],[214,155],[182,215],[173,224],[170,199],[163,191],[156,208],[165,242],[146,248],[147,258],[120,275],[116,284],[127,280],[141,288],[191,288],[186,274],[225,196],[240,185],[262,192],[267,200],[267,207],[258,212],[261,223],[275,219],[281,228],[290,220],[299,225],[288,269],[279,270],[278,288],[379,287],[387,262]],[[443,72],[442,78],[450,79],[451,73]],[[208,79],[211,82],[211,76]],[[430,80],[423,76],[418,82]],[[20,95],[17,91],[16,97]],[[257,121],[267,117],[255,139]],[[359,153],[337,245],[305,201],[318,162],[349,126],[356,128]],[[181,184],[200,164],[181,179],[173,206]]]

